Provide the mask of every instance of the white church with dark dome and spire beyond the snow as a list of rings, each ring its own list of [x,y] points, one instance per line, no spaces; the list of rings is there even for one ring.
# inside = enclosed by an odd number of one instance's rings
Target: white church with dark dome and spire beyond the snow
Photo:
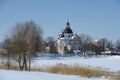
[[[69,21],[67,21],[65,29],[57,38],[56,44],[59,54],[80,53],[80,37],[73,33]]]

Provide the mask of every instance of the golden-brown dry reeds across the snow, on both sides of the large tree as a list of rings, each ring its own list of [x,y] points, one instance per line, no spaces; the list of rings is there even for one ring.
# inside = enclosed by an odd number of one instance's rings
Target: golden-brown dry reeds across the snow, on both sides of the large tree
[[[0,66],[0,69],[8,70],[7,65]],[[15,66],[10,65],[10,70],[19,70]],[[120,80],[120,72],[112,73],[106,71],[102,68],[90,68],[90,67],[80,67],[78,65],[68,66],[65,64],[57,64],[56,66],[47,67],[47,68],[32,68],[31,71],[41,71],[41,72],[50,72],[50,73],[58,73],[58,74],[66,74],[66,75],[78,75],[81,77],[105,77],[110,78],[112,80]]]

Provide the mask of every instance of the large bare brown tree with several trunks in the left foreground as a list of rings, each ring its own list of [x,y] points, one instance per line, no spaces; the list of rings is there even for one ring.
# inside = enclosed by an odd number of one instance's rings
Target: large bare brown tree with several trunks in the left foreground
[[[13,58],[19,63],[20,70],[28,70],[29,63],[30,71],[32,55],[41,51],[42,30],[33,21],[18,23],[10,38]]]

